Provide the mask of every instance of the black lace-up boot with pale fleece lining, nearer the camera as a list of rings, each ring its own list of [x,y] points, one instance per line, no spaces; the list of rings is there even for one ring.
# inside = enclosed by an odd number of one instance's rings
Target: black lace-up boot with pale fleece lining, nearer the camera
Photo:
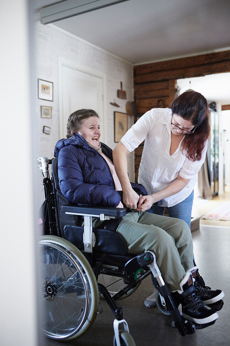
[[[191,274],[188,281],[184,283],[187,277],[186,275],[180,284],[182,293],[179,291],[179,294],[174,295],[181,303],[182,316],[197,324],[207,324],[215,321],[218,318],[218,313],[205,305],[201,298],[197,296]]]

